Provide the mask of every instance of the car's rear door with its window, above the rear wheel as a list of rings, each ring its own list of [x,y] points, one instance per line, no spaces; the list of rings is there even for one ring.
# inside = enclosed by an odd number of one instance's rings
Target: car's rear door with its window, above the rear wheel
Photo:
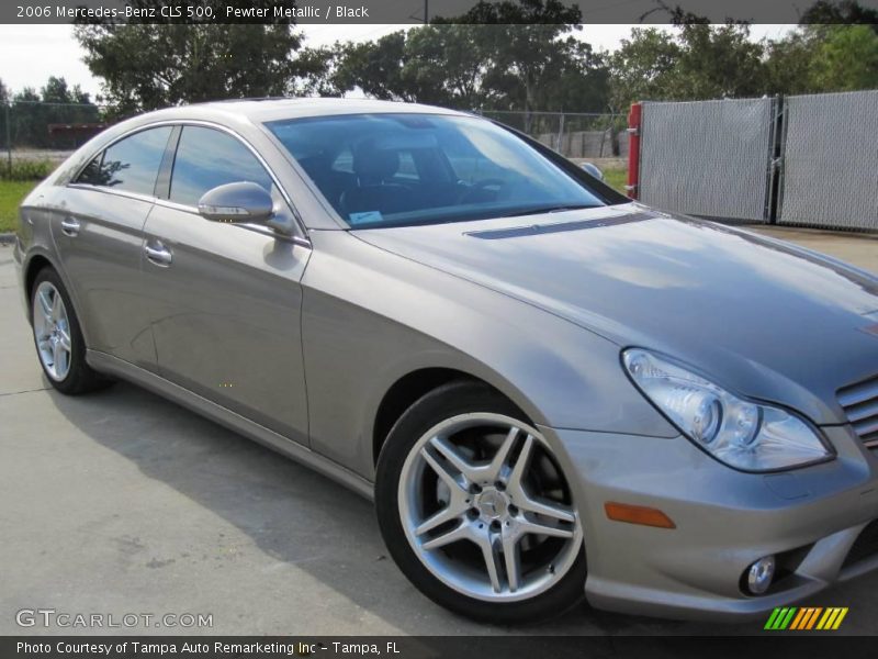
[[[89,348],[148,369],[156,360],[139,287],[143,228],[172,131],[140,130],[104,148],[52,215]]]

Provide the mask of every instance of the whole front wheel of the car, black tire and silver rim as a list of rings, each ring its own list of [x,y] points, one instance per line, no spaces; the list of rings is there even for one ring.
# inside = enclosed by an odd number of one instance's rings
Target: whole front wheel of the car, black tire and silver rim
[[[454,382],[409,407],[381,451],[384,541],[437,603],[491,623],[538,622],[582,600],[583,534],[542,435],[486,386]]]

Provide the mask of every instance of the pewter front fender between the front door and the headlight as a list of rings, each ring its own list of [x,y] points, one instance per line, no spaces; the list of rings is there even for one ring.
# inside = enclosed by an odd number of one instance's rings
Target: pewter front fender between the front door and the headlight
[[[678,435],[606,338],[346,232],[312,238],[302,314],[312,448],[365,478],[384,394],[425,368],[484,380],[539,425]]]

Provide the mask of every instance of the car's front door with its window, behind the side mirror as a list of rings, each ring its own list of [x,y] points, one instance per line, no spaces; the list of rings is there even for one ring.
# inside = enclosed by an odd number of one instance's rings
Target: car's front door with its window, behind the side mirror
[[[300,280],[309,248],[264,226],[202,217],[207,190],[252,181],[291,213],[274,180],[238,136],[184,125],[167,200],[145,227],[144,290],[149,295],[159,373],[296,442],[307,442]]]

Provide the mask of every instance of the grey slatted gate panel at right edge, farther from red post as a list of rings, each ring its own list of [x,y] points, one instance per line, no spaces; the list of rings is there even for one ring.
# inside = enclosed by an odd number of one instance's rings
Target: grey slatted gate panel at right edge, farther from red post
[[[784,102],[777,222],[878,230],[878,91]]]

